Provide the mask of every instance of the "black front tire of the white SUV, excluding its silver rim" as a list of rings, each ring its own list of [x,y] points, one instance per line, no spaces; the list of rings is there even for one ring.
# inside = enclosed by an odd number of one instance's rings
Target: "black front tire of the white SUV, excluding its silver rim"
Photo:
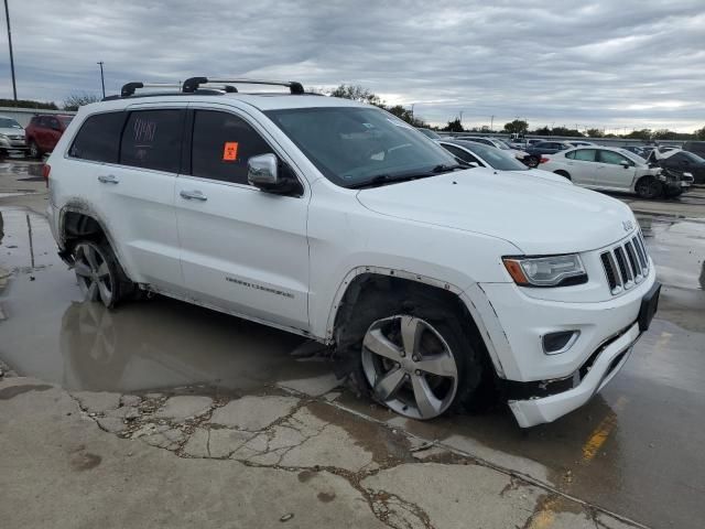
[[[398,315],[414,316],[432,324],[451,348],[457,367],[457,386],[452,402],[440,414],[481,409],[484,403],[475,397],[480,397],[482,381],[489,378],[485,346],[469,322],[464,322],[447,302],[434,295],[414,293],[400,298],[389,290],[362,294],[338,333],[337,374],[347,379],[358,396],[387,406],[373,393],[365,374],[362,341],[375,322]]]

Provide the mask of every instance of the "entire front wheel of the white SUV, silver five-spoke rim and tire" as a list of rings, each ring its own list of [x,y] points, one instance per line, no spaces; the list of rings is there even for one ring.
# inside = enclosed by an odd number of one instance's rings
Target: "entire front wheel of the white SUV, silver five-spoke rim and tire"
[[[437,303],[370,295],[355,310],[361,339],[344,353],[357,390],[411,419],[479,409],[480,346],[458,315]]]

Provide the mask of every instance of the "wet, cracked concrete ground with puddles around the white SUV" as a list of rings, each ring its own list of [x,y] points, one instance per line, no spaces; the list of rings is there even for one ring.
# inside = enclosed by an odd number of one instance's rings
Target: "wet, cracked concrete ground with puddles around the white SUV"
[[[590,403],[521,430],[503,407],[398,418],[314,344],[235,317],[82,302],[37,174],[0,164],[3,526],[702,527],[705,190],[620,197],[660,312]]]

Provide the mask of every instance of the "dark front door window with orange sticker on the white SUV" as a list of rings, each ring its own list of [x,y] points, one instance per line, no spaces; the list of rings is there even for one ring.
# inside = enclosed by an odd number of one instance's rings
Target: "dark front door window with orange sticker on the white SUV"
[[[247,161],[271,152],[269,143],[241,118],[196,110],[191,154],[194,176],[247,184]]]

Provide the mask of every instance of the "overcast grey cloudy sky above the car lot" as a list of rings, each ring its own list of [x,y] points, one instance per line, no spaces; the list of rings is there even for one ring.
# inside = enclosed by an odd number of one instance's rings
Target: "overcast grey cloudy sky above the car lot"
[[[18,96],[234,75],[361,85],[465,127],[705,126],[703,0],[9,0]],[[11,97],[4,28],[0,97]]]

